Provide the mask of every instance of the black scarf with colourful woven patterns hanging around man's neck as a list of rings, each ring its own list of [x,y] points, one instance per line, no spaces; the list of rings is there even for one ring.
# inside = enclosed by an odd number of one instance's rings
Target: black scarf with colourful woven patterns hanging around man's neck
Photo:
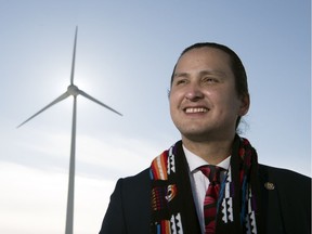
[[[200,233],[188,165],[179,141],[151,165],[152,220],[155,234]],[[248,140],[235,136],[231,166],[221,184],[216,234],[260,234],[257,153]]]

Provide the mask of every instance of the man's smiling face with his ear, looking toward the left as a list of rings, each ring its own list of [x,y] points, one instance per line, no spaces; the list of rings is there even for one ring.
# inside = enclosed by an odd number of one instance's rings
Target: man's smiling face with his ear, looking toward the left
[[[170,114],[190,141],[234,138],[238,116],[247,113],[249,98],[238,96],[230,56],[214,48],[193,49],[176,66]]]

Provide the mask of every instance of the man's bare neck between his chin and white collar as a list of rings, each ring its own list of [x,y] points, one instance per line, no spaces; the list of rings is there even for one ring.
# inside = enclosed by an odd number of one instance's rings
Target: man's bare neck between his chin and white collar
[[[218,165],[231,155],[234,138],[218,141],[192,141],[182,135],[183,145],[210,165]]]

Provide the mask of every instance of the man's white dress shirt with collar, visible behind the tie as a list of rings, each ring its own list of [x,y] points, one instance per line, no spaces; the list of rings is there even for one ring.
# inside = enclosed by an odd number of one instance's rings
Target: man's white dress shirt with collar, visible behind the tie
[[[197,168],[200,166],[209,165],[209,164],[203,158],[200,158],[199,156],[190,152],[187,148],[184,147],[184,145],[183,145],[183,151],[184,151],[184,154],[188,164],[188,168],[190,168],[191,187],[193,192],[197,216],[198,216],[199,223],[202,226],[202,233],[205,233],[204,199],[205,199],[206,191],[209,185],[209,179]],[[223,161],[221,161],[217,166],[227,170],[230,167],[230,159],[231,159],[231,156],[225,158]]]

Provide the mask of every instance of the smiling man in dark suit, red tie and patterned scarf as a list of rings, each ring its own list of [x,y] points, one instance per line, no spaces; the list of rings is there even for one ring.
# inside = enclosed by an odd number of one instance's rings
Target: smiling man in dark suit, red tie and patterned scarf
[[[250,100],[235,52],[217,43],[185,49],[169,101],[182,141],[117,182],[100,234],[311,233],[310,178],[258,165],[236,133]]]

